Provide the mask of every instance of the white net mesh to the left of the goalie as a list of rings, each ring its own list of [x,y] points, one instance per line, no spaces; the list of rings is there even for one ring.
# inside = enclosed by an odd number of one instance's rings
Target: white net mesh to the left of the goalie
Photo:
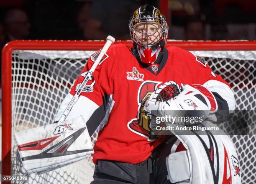
[[[53,123],[58,107],[93,52],[13,52],[13,132]],[[96,135],[93,142],[96,140]],[[20,162],[12,143],[12,173],[20,175]],[[46,174],[32,174],[29,183],[90,183],[91,157]]]

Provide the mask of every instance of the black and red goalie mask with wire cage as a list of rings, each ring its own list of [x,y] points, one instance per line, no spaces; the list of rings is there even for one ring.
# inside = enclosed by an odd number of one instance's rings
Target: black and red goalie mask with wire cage
[[[133,13],[129,28],[141,61],[155,62],[167,41],[168,25],[164,15],[152,5],[143,5]]]

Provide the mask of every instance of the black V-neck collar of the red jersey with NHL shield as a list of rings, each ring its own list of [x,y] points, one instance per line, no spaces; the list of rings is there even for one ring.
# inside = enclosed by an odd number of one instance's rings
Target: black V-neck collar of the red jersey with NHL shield
[[[143,68],[146,68],[149,72],[151,72],[152,74],[155,75],[155,73],[153,72],[153,70],[151,69],[150,65],[146,64],[146,63],[143,63],[141,61],[141,58],[140,56],[138,55],[138,52],[136,49],[132,48],[132,53],[134,55],[134,57],[136,57],[136,59],[138,60],[138,62],[140,63],[140,65],[143,67]],[[159,74],[159,72],[161,72],[161,70],[164,68],[165,64],[166,64],[166,61],[168,59],[168,50],[166,48],[164,48],[164,52],[160,52],[158,57],[156,58],[156,64],[159,64],[159,69],[156,73],[156,75]]]

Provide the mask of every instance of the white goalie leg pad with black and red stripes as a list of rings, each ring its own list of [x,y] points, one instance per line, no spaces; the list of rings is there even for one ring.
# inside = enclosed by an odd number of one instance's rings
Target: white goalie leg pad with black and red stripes
[[[204,122],[205,127],[215,126]],[[182,125],[178,125],[182,126]],[[241,167],[233,142],[227,135],[177,135],[166,158],[167,178],[172,183],[241,184]],[[187,150],[177,152],[180,143]]]

